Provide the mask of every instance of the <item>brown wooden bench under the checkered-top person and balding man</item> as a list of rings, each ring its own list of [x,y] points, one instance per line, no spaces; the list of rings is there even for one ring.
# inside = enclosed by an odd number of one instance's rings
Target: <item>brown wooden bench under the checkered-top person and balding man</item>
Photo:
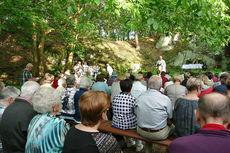
[[[158,144],[161,146],[165,146],[168,147],[168,145],[173,141],[172,138],[168,138],[166,140],[162,140],[162,141],[153,141],[153,140],[149,140],[146,138],[141,137],[136,130],[120,130],[117,128],[114,128],[111,126],[112,122],[111,121],[103,121],[102,124],[99,126],[99,131],[102,132],[109,132],[109,133],[113,133],[116,135],[120,135],[120,136],[125,136],[125,137],[130,137],[133,139],[138,139],[138,140],[142,140],[146,142],[146,146],[145,146],[145,152],[146,153],[151,153],[152,152],[152,144]]]

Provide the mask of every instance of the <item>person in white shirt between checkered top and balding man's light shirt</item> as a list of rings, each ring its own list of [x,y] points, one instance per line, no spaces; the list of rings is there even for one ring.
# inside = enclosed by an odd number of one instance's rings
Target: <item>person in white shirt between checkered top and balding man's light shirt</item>
[[[138,98],[143,92],[147,90],[147,87],[141,83],[143,79],[143,74],[138,73],[135,76],[135,81],[131,90],[131,95],[135,98]]]

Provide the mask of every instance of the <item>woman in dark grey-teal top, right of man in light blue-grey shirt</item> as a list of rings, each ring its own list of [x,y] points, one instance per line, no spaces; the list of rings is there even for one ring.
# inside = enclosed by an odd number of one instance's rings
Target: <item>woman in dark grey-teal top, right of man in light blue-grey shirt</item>
[[[178,98],[173,112],[173,123],[175,125],[174,135],[182,137],[194,134],[200,127],[195,120],[194,110],[198,106],[198,95],[201,92],[201,80],[190,78],[187,81],[188,94]]]

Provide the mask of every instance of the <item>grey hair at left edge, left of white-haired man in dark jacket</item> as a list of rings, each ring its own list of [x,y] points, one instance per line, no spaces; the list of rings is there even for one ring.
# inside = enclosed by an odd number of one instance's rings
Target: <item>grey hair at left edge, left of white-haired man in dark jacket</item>
[[[15,99],[20,95],[20,90],[13,87],[13,86],[7,86],[3,88],[0,92],[0,101],[7,100],[8,98],[12,97]]]

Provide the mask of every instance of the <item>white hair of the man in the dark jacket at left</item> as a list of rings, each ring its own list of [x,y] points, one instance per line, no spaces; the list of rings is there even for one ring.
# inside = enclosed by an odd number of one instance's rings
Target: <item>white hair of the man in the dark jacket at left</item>
[[[35,81],[26,81],[21,88],[21,96],[32,99],[35,92],[40,88],[40,85]]]

